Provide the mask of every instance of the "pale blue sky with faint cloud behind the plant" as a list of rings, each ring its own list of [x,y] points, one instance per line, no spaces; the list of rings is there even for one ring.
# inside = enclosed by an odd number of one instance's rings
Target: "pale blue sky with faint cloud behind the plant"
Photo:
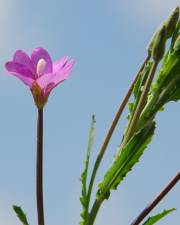
[[[11,206],[21,205],[37,224],[35,140],[37,110],[28,87],[8,76],[4,62],[15,50],[46,48],[53,60],[76,60],[72,76],[57,87],[44,110],[46,225],[79,223],[79,177],[91,114],[96,115],[93,164],[109,124],[146,56],[154,30],[179,0],[0,0],[0,225],[19,225]],[[180,103],[157,116],[153,142],[118,191],[105,201],[95,225],[130,224],[179,171]],[[126,113],[101,164],[96,186],[111,165]],[[95,186],[95,187],[96,187]],[[159,225],[180,224],[180,184],[152,212],[178,210]]]

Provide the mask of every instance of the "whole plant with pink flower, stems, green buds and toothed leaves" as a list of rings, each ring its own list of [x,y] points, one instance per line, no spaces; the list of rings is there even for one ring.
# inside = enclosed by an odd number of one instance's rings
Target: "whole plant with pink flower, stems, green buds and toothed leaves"
[[[166,50],[166,42],[170,45]],[[160,62],[162,63],[160,64]],[[49,94],[54,87],[66,80],[74,65],[74,60],[63,57],[52,63],[48,52],[43,48],[36,48],[31,57],[25,52],[15,52],[13,60],[5,64],[8,72],[29,86],[35,105],[38,109],[37,122],[37,164],[36,164],[36,197],[38,225],[45,225],[43,210],[43,108]],[[158,66],[160,67],[158,69]],[[156,71],[158,72],[156,73]],[[129,102],[130,96],[133,101]],[[166,107],[170,101],[180,100],[180,20],[179,7],[172,11],[167,20],[158,28],[147,47],[147,56],[135,76],[115,115],[102,147],[93,165],[90,182],[88,172],[91,149],[94,143],[95,116],[92,116],[91,128],[84,169],[81,176],[82,204],[80,225],[93,225],[96,216],[104,203],[116,190],[123,179],[139,162],[145,149],[153,139],[156,129],[156,115]],[[116,157],[106,171],[104,179],[99,183],[95,199],[92,199],[92,190],[97,171],[111,140],[113,132],[121,117],[125,106],[129,106],[128,124],[119,144]],[[180,172],[160,192],[160,194],[137,216],[131,225],[140,224],[151,210],[180,180]],[[92,207],[91,206],[92,201]],[[14,206],[20,221],[29,225],[26,215],[19,206]],[[152,225],[175,209],[163,212],[148,218],[143,224]]]

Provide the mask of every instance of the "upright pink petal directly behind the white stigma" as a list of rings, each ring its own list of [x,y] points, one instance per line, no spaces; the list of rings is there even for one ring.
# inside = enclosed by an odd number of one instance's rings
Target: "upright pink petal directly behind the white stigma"
[[[35,69],[37,68],[37,64],[38,64],[40,59],[44,59],[46,61],[44,74],[45,73],[51,73],[52,72],[52,60],[51,60],[50,55],[43,48],[35,48],[33,50],[32,55],[31,55],[31,60],[32,60],[32,63],[34,65]]]

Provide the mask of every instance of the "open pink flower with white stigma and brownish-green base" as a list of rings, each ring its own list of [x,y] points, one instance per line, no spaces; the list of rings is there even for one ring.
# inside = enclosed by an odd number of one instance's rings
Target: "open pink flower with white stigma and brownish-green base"
[[[31,57],[17,50],[13,60],[7,62],[5,67],[30,87],[37,107],[43,108],[51,90],[70,76],[74,63],[67,56],[52,63],[45,49],[35,48]]]

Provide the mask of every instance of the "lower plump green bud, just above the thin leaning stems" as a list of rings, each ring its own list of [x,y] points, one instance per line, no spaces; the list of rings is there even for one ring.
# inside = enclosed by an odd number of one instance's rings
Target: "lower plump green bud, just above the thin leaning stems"
[[[162,26],[156,33],[152,45],[152,57],[155,62],[159,62],[165,52],[166,47],[166,27]]]

